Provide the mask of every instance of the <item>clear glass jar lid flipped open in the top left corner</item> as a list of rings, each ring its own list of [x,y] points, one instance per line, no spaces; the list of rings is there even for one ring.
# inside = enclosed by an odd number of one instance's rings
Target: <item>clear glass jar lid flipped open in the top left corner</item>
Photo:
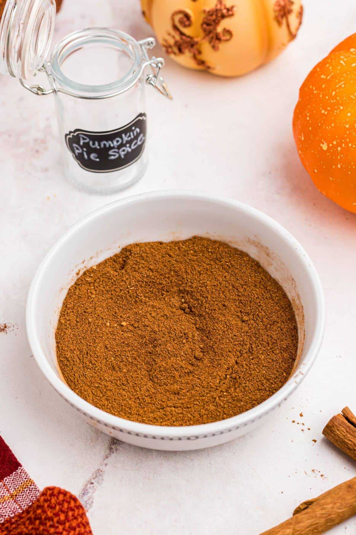
[[[7,0],[0,22],[0,73],[28,79],[48,55],[55,0]]]

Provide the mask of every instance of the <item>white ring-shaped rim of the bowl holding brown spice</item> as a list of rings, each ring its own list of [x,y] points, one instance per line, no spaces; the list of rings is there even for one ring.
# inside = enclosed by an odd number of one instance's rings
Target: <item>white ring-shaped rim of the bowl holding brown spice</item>
[[[57,251],[66,242],[68,236],[73,232],[77,231],[82,226],[85,226],[85,224],[89,220],[99,218],[106,212],[116,210],[117,208],[123,205],[131,205],[131,207],[133,208],[135,204],[142,203],[145,200],[154,199],[164,202],[165,200],[167,200],[167,198],[178,198],[182,202],[184,202],[188,198],[197,201],[210,201],[214,203],[219,203],[222,209],[224,208],[224,205],[225,207],[239,208],[240,210],[249,213],[249,215],[254,216],[254,218],[257,219],[260,224],[265,227],[269,227],[270,230],[278,234],[279,237],[286,244],[288,244],[289,248],[292,247],[297,251],[298,256],[300,258],[300,262],[304,264],[305,270],[310,275],[315,289],[315,300],[317,302],[319,314],[316,318],[310,348],[307,351],[307,355],[304,361],[298,365],[297,370],[288,379],[287,383],[284,384],[278,392],[273,394],[271,398],[268,398],[263,403],[260,403],[256,407],[246,412],[243,412],[242,414],[227,418],[225,420],[220,420],[218,422],[181,427],[159,426],[126,420],[124,418],[120,418],[118,416],[114,416],[105,411],[102,411],[97,407],[94,407],[89,402],[83,400],[82,398],[80,398],[80,396],[75,394],[57,376],[56,372],[54,372],[51,365],[46,360],[46,356],[41,348],[41,344],[39,343],[39,337],[36,330],[35,303],[38,292],[38,285],[41,280],[42,273],[45,271],[46,265],[50,261],[52,255],[57,253]],[[81,412],[81,414],[83,414],[85,417],[88,417],[92,421],[95,421],[100,425],[103,425],[115,431],[136,435],[137,437],[161,440],[196,440],[238,430],[241,427],[244,427],[262,418],[263,416],[271,412],[273,409],[278,407],[281,402],[288,398],[288,396],[297,388],[297,386],[306,376],[307,372],[310,370],[320,349],[325,329],[325,299],[320,279],[311,259],[308,257],[305,250],[297,242],[297,240],[293,238],[293,236],[275,220],[266,216],[263,212],[260,212],[255,208],[251,208],[249,205],[240,203],[238,201],[230,200],[224,197],[216,197],[204,193],[170,190],[167,192],[151,192],[123,198],[119,201],[115,201],[113,203],[105,205],[102,208],[99,208],[98,210],[90,213],[88,216],[84,217],[83,219],[78,221],[78,223],[70,227],[69,230],[57,241],[57,243],[54,244],[54,246],[44,257],[42,263],[38,267],[28,294],[26,307],[26,325],[30,347],[33,351],[35,360],[39,368],[44,373],[44,376],[46,377],[46,379],[48,379],[49,383],[53,386],[53,388],[56,389],[56,391],[62,396],[62,398],[64,398],[76,410]]]

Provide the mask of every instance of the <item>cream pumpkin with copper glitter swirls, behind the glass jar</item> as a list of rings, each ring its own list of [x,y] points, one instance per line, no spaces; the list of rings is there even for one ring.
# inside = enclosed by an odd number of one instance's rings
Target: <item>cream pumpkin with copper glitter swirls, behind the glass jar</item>
[[[178,63],[239,76],[277,56],[302,22],[300,0],[141,0],[162,47]]]

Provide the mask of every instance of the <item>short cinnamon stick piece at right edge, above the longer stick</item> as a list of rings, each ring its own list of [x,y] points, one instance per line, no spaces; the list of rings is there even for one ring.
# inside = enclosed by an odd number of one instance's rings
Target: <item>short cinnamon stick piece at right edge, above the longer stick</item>
[[[356,416],[349,407],[333,416],[322,434],[356,461]]]

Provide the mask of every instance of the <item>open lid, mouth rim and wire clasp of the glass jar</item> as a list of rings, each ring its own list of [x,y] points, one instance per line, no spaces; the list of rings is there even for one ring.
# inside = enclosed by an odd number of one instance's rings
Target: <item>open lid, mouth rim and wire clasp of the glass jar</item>
[[[79,98],[107,98],[130,89],[149,66],[152,73],[147,75],[146,83],[172,98],[160,75],[163,58],[148,57],[148,49],[155,45],[152,37],[136,41],[118,30],[88,28],[74,32],[58,43],[49,63],[46,57],[52,43],[55,20],[55,0],[7,0],[0,21],[0,73],[19,78],[22,86],[36,95],[61,92]],[[122,52],[129,62],[126,70],[115,80],[110,83],[81,83],[65,74],[62,67],[68,57],[77,57],[78,51],[104,44]],[[30,86],[24,81],[38,71],[46,72],[51,89]]]

